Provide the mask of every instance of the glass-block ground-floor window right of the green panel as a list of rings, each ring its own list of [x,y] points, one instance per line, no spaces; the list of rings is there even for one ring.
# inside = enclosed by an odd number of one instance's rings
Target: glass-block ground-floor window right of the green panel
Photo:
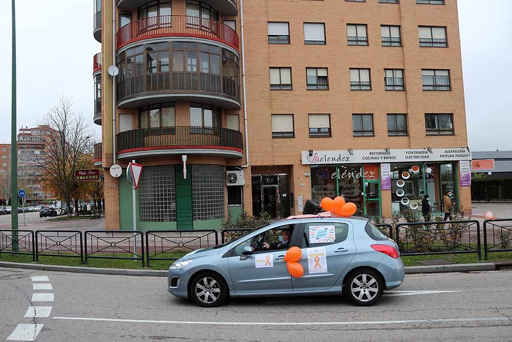
[[[225,168],[192,165],[192,212],[195,221],[224,218]]]

